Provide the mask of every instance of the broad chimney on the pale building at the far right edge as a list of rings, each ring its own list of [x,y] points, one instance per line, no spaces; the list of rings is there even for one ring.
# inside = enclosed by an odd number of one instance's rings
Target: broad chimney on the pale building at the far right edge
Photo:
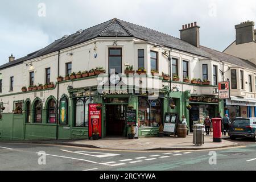
[[[236,44],[245,44],[255,40],[254,22],[242,22],[235,26]]]

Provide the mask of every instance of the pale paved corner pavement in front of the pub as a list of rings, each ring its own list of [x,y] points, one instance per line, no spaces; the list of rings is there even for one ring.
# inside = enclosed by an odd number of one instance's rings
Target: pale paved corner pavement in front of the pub
[[[237,147],[240,144],[223,137],[221,143],[214,143],[212,136],[204,137],[203,146],[195,146],[192,143],[193,135],[189,134],[187,138],[177,137],[151,137],[129,140],[127,138],[102,138],[100,140],[49,140],[49,141],[22,141],[22,143],[37,144],[59,144],[65,146],[101,148],[108,150],[127,150],[127,151],[150,151],[150,150],[210,150],[214,148]]]

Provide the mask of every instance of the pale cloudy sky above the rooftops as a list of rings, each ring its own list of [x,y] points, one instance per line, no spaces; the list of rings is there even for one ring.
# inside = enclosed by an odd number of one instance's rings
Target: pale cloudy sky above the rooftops
[[[196,21],[201,45],[219,51],[235,40],[235,24],[256,20],[254,0],[1,0],[0,5],[0,64],[11,53],[26,56],[112,18],[177,38],[183,24]]]

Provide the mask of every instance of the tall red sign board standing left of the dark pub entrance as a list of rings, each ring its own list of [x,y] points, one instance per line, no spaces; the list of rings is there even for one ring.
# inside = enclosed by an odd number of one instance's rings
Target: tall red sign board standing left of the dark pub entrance
[[[101,104],[89,104],[89,137],[95,132],[101,137]]]

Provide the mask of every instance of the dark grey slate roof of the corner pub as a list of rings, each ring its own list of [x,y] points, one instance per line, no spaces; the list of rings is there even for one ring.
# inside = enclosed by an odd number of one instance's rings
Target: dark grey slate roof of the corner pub
[[[125,22],[123,20],[114,18],[107,22],[98,24],[96,26],[87,28],[86,30],[77,31],[75,34],[65,36],[61,39],[55,40],[55,42],[49,44],[47,47],[42,48],[36,52],[20,59],[14,60],[11,63],[6,63],[0,66],[0,69],[11,67],[15,64],[23,63],[23,61],[34,59],[48,53],[56,52],[64,48],[75,46],[87,42],[89,40],[100,37],[134,37],[148,42],[160,44],[166,47],[174,48],[180,51],[189,52],[194,55],[211,58],[213,56],[220,56],[221,52],[214,52],[212,49],[206,47],[197,48],[192,44],[189,44],[181,39],[173,36],[163,34],[162,32],[152,30],[150,28],[142,27],[137,24]],[[212,50],[212,51],[210,51]],[[217,54],[217,55],[215,55]],[[225,53],[222,53],[225,54]],[[225,57],[224,55],[220,57]],[[233,57],[233,56],[232,56]],[[227,57],[228,58],[228,57]],[[228,60],[225,60],[228,62]],[[232,58],[235,63],[239,60]],[[242,64],[244,66],[244,64]],[[247,64],[246,64],[247,65]],[[255,65],[254,65],[255,66]]]

